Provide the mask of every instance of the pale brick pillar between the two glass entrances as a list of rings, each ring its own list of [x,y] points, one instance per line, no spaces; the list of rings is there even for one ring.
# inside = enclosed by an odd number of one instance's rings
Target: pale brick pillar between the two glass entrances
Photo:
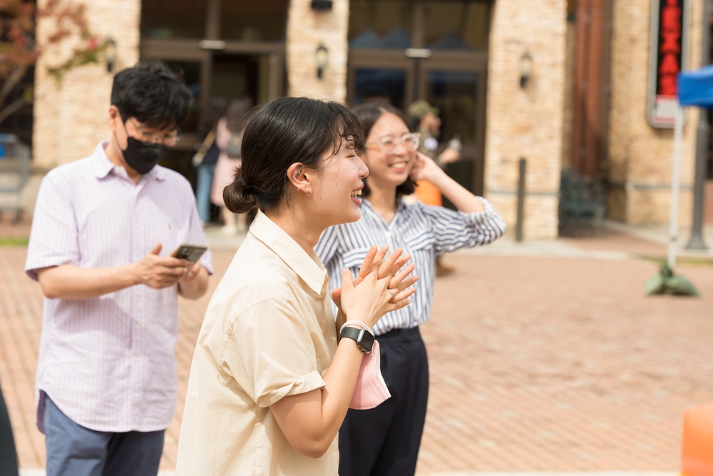
[[[347,33],[349,0],[334,0],[331,11],[314,11],[310,0],[289,2],[287,18],[287,81],[289,96],[347,98]],[[317,79],[314,52],[328,49],[327,68]]]

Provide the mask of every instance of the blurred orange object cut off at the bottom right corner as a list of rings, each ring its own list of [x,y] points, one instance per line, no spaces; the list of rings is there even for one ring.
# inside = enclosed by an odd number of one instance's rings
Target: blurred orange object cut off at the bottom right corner
[[[681,474],[713,476],[713,402],[684,413]]]

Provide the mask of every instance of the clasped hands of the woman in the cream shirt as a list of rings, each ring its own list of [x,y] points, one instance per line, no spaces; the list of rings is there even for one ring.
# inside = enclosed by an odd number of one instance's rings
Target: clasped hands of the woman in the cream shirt
[[[342,270],[342,288],[335,290],[332,297],[347,319],[374,327],[384,314],[411,303],[409,297],[416,290],[410,286],[419,279],[409,276],[413,263],[404,267],[411,256],[404,255],[401,248],[386,256],[388,251],[388,246],[378,250],[372,246],[354,280],[349,269]]]

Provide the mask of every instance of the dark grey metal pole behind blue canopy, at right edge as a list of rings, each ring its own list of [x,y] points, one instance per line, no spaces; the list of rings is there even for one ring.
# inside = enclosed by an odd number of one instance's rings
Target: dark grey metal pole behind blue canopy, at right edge
[[[703,21],[701,41],[701,66],[710,63],[710,19],[709,0],[703,0]],[[687,250],[707,250],[703,240],[703,206],[706,165],[708,161],[708,110],[699,108],[698,128],[696,129],[696,166],[693,182],[693,220],[691,240],[686,245]]]

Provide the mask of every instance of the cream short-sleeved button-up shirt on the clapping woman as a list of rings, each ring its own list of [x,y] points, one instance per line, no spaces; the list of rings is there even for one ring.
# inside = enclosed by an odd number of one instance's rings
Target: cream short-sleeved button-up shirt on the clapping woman
[[[289,444],[270,405],[324,387],[337,351],[327,270],[258,212],[208,305],[188,380],[176,475],[337,475]]]

